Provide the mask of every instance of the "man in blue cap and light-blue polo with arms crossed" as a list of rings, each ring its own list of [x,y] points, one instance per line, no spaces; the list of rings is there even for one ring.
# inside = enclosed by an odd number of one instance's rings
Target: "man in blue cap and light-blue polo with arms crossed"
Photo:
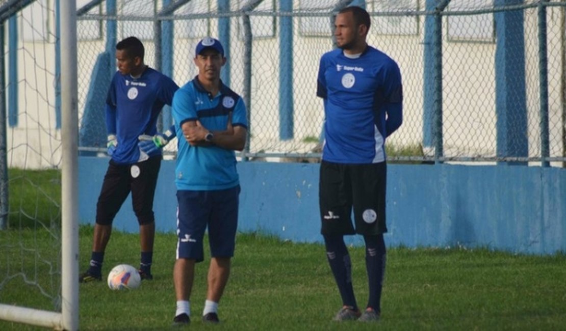
[[[246,144],[247,117],[242,98],[222,84],[224,48],[214,38],[196,45],[199,74],[173,99],[178,140],[177,260],[173,269],[177,311],[174,325],[190,323],[195,264],[204,260],[208,228],[211,261],[203,321],[218,323],[218,302],[234,255],[240,191],[234,151]]]

